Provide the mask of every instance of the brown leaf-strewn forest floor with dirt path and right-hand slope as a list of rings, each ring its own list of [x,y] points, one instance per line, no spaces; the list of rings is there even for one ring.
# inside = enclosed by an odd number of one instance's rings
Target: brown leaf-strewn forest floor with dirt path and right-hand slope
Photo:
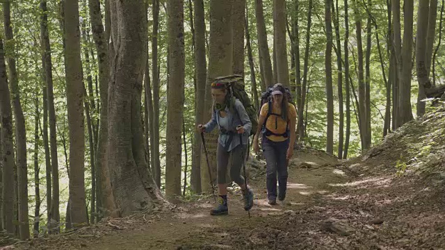
[[[232,188],[226,216],[207,197],[10,249],[445,249],[444,123],[442,108],[351,160],[298,150],[284,203],[250,180],[250,218]]]

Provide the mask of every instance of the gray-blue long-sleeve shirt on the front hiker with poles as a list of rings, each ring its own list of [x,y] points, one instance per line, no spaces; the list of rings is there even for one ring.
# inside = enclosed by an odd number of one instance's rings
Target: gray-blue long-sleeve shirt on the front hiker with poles
[[[220,135],[218,138],[218,143],[221,144],[221,146],[227,148],[227,151],[232,151],[236,146],[240,144],[240,139],[238,133],[236,133],[236,126],[243,126],[245,131],[243,133],[243,144],[248,144],[248,138],[250,135],[250,130],[252,129],[252,122],[250,122],[250,118],[248,116],[248,113],[245,111],[245,108],[243,106],[243,103],[236,99],[234,104],[234,113],[232,114],[230,112],[230,108],[226,107],[225,112],[227,113],[227,119],[229,126],[227,128],[223,128],[223,130],[226,131],[232,131],[234,134],[232,135],[232,141],[229,142],[229,139],[231,135],[229,133],[221,133],[222,127],[220,126],[220,115],[218,110],[213,110],[213,113],[211,115],[211,120],[204,125],[205,126],[205,132],[210,133],[213,131],[213,129],[218,126],[220,128]]]

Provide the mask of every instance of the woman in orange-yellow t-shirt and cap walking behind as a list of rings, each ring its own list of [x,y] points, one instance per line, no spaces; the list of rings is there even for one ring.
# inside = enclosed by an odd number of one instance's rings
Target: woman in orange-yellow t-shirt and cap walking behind
[[[258,129],[253,140],[253,149],[258,153],[258,138],[262,132],[261,147],[266,158],[266,186],[270,205],[277,203],[277,197],[280,201],[284,201],[286,197],[287,165],[293,155],[296,138],[297,112],[295,106],[288,102],[285,92],[280,83],[273,86],[272,100],[261,107]]]

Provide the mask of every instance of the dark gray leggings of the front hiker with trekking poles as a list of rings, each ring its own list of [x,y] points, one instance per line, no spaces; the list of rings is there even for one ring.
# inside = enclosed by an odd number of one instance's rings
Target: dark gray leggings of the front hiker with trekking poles
[[[232,154],[232,160],[230,164],[230,178],[238,185],[244,184],[244,178],[241,176],[241,167],[243,166],[243,151],[247,148],[247,145],[239,144],[231,151],[227,152],[224,147],[218,143],[216,149],[216,158],[218,159],[216,169],[218,170],[217,181],[218,184],[226,184],[225,176],[227,174],[227,167],[229,166],[229,158]]]

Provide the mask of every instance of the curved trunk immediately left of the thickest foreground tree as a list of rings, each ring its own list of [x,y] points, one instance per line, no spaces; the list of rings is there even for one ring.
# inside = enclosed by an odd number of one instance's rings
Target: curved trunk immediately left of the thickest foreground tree
[[[88,0],[90,9],[92,38],[95,40],[97,49],[97,64],[99,66],[99,88],[100,88],[100,128],[99,142],[97,144],[96,164],[98,183],[101,187],[101,201],[105,216],[118,216],[113,190],[111,189],[110,170],[107,162],[107,140],[108,140],[108,80],[110,78],[108,57],[108,36],[104,32],[102,24],[99,0]],[[99,212],[99,210],[97,210]]]

